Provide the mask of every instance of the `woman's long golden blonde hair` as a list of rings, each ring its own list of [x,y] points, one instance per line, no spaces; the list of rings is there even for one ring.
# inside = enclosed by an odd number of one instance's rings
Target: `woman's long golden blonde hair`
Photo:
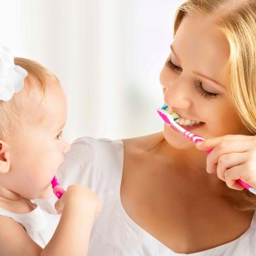
[[[184,16],[212,18],[230,46],[225,67],[225,86],[238,116],[256,134],[256,2],[255,0],[189,0],[174,21],[174,35]],[[255,167],[256,168],[256,167]],[[246,204],[240,210],[255,210],[256,196],[242,191]]]

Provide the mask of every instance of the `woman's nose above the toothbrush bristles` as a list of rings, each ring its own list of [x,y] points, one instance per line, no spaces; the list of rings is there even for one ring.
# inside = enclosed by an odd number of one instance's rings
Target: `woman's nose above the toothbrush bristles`
[[[181,79],[163,86],[165,104],[176,108],[189,108],[191,105],[191,91],[187,83]]]

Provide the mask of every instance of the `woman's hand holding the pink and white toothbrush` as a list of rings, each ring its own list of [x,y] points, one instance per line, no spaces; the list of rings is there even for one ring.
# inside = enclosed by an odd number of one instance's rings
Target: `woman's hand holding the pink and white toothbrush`
[[[226,135],[209,138],[196,144],[198,150],[213,149],[207,157],[206,170],[217,176],[228,187],[243,190],[240,179],[256,187],[256,136]]]

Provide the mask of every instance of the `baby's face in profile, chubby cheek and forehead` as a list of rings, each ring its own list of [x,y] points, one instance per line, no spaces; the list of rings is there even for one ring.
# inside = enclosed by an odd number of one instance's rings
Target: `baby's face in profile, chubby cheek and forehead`
[[[63,163],[63,154],[69,150],[62,137],[67,117],[65,93],[53,78],[48,78],[47,83],[42,104],[38,92],[27,95],[27,106],[22,112],[24,125],[9,143],[9,174],[19,181],[11,189],[26,199],[52,195],[52,178]]]

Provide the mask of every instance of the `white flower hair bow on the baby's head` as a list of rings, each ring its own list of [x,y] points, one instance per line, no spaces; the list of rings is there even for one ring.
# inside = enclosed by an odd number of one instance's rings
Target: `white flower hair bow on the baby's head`
[[[10,101],[24,86],[27,71],[14,64],[14,56],[7,47],[0,46],[0,101]]]

